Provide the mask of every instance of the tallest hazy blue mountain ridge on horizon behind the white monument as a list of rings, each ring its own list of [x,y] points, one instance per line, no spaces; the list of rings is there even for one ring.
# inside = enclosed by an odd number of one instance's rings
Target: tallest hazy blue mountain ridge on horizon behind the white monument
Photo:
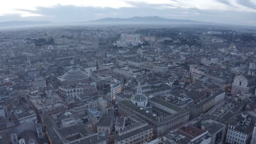
[[[147,16],[147,17],[131,17],[128,19],[121,18],[104,18],[94,21],[89,21],[91,23],[206,23],[200,21],[192,21],[192,20],[178,20],[178,19],[165,19],[158,16]]]

